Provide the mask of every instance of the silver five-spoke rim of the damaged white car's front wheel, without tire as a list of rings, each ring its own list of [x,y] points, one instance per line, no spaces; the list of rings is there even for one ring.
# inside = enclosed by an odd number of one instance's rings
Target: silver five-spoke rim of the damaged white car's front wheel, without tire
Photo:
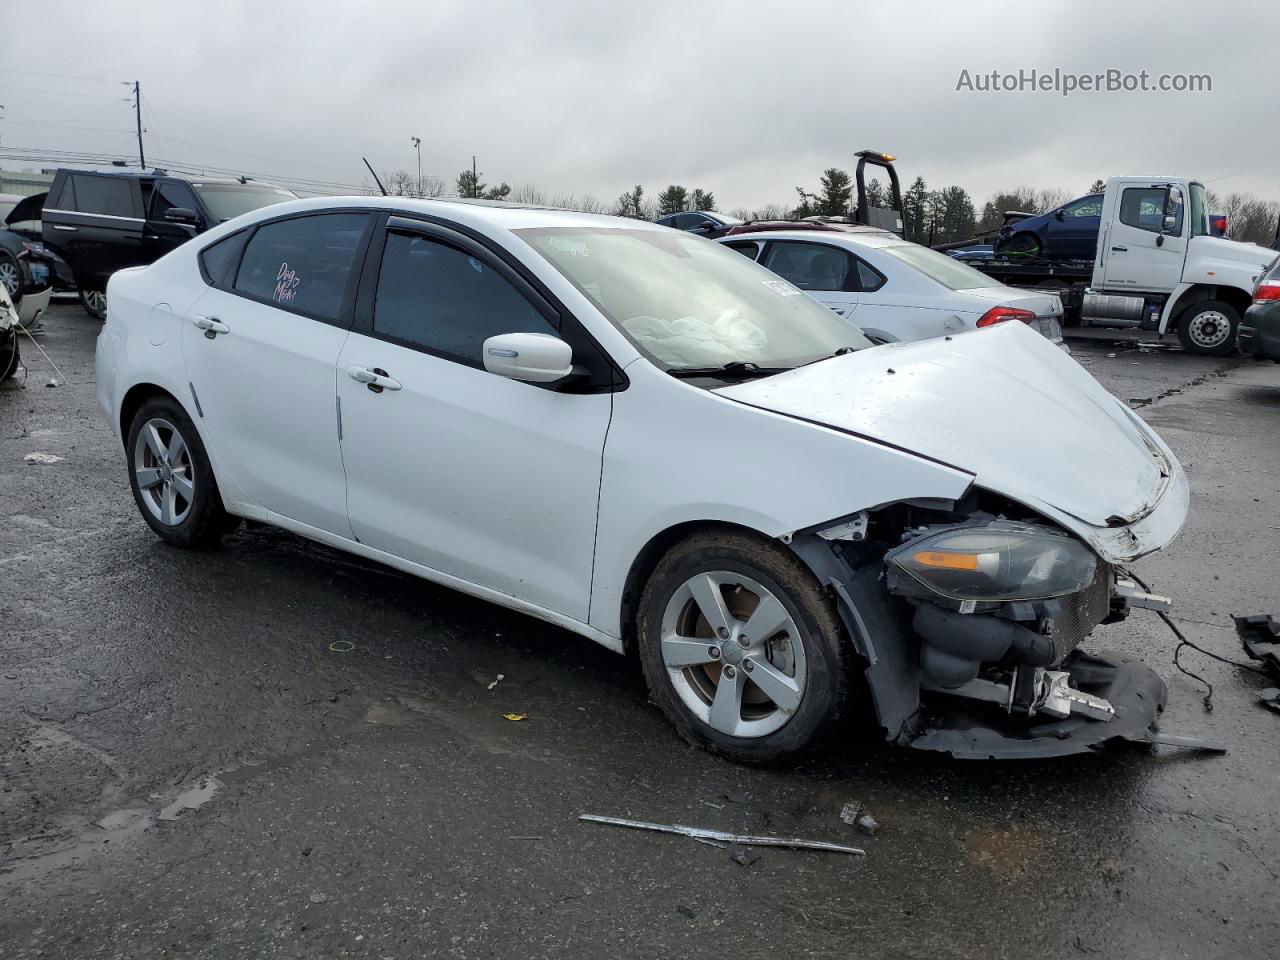
[[[728,736],[768,736],[804,699],[796,622],[773,593],[741,573],[699,573],[671,595],[662,660],[685,707]]]

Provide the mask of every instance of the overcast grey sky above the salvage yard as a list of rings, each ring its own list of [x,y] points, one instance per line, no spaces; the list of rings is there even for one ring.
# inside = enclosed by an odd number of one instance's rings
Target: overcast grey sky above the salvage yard
[[[358,184],[362,154],[416,174],[419,136],[424,173],[451,184],[476,154],[489,183],[609,202],[684,183],[722,210],[790,204],[864,147],[979,207],[1015,184],[1076,195],[1120,173],[1280,198],[1275,13],[1235,0],[0,0],[0,154],[136,156],[118,99],[140,79],[148,163],[282,177]],[[1212,92],[956,91],[963,69],[1032,68],[1207,73]],[[37,76],[50,73],[77,79]]]

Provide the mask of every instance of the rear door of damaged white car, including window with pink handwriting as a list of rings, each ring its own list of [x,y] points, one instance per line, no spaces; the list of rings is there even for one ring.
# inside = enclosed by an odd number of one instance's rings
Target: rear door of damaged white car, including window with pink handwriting
[[[197,415],[234,489],[347,538],[334,376],[369,219],[292,216],[211,244],[210,285],[182,324]]]

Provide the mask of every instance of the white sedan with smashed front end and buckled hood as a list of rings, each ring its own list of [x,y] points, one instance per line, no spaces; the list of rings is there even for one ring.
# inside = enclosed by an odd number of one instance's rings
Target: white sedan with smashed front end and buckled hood
[[[872,346],[660,227],[282,204],[116,273],[99,399],[165,540],[274,524],[622,652],[692,742],[768,762],[870,698],[899,744],[1152,735],[1087,653],[1158,603],[1172,452],[1023,324]]]

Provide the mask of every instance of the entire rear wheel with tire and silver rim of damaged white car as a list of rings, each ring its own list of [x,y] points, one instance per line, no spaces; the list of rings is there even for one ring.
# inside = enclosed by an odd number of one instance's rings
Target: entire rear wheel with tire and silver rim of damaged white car
[[[186,411],[155,397],[133,415],[129,486],[142,518],[166,543],[216,541],[228,525],[212,467]]]

